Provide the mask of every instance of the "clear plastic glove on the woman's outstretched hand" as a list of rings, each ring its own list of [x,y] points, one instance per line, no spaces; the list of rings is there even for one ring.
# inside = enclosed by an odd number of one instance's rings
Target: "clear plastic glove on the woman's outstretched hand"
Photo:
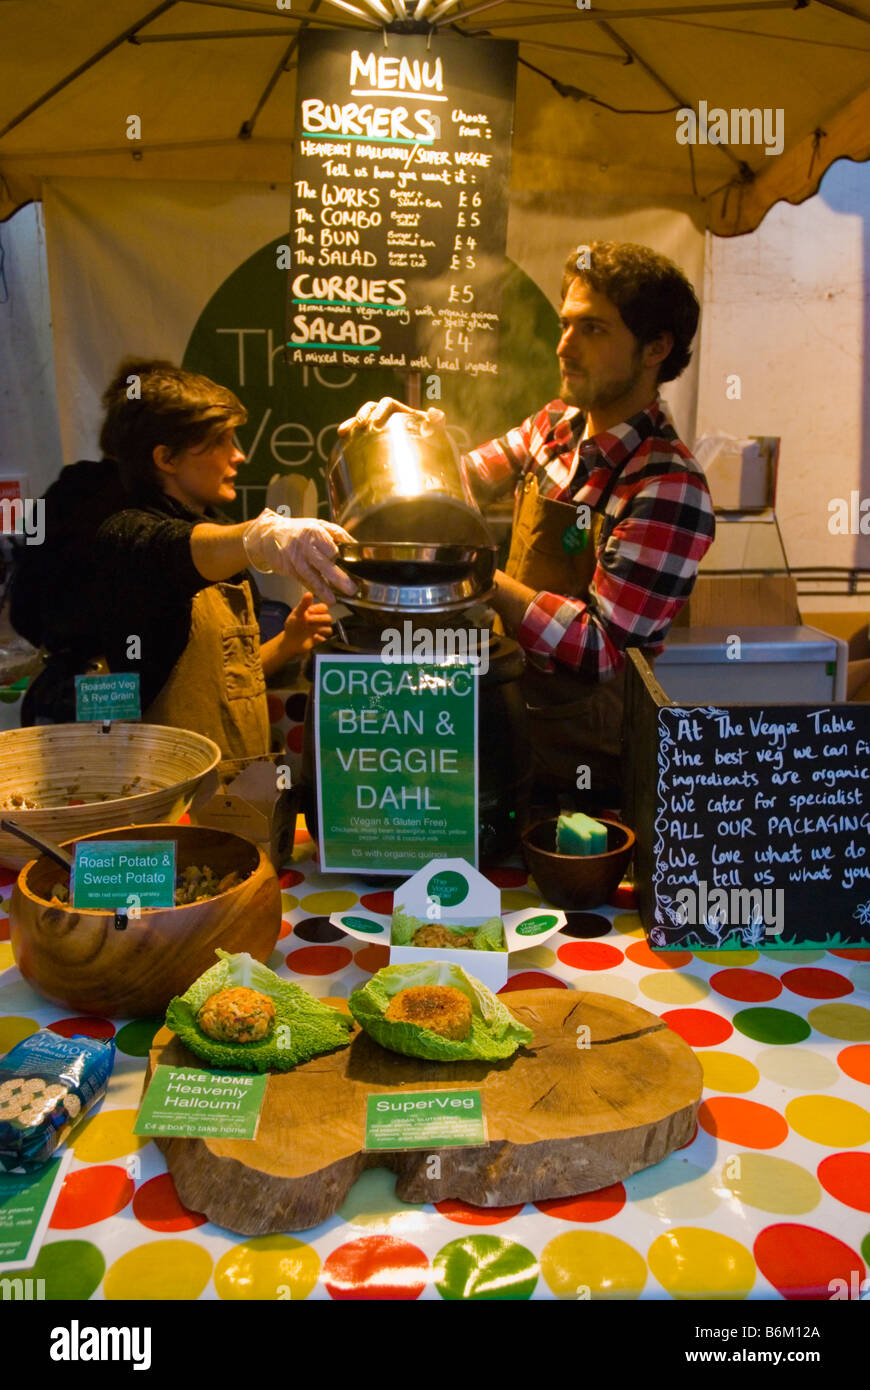
[[[332,521],[282,517],[267,507],[249,523],[242,539],[254,570],[299,580],[324,603],[356,592],[350,575],[334,563],[339,545],[352,545],[353,537]]]

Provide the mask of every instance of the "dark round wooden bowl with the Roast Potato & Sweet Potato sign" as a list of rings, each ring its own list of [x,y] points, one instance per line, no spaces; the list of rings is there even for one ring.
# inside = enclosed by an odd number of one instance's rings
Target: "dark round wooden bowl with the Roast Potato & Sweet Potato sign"
[[[249,951],[257,960],[271,955],[281,931],[281,887],[250,840],[204,826],[165,824],[78,838],[175,840],[178,872],[208,865],[218,877],[232,869],[249,877],[206,902],[143,908],[118,931],[111,912],[51,906],[47,899],[63,869],[46,855],[32,859],[10,901],[13,955],[25,980],[53,1004],[107,1017],[156,1016],[217,963],[217,947]]]

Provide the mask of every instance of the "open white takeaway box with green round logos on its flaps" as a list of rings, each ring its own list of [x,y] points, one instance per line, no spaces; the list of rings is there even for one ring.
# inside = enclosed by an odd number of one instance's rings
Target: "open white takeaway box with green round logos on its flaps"
[[[396,888],[396,909],[418,917],[420,924],[441,923],[445,927],[481,927],[491,917],[500,916],[500,890],[473,869],[466,859],[432,859],[418,869],[400,888]],[[466,974],[479,980],[489,990],[500,990],[507,983],[507,958],[511,951],[525,951],[539,945],[559,931],[566,922],[556,908],[525,908],[502,917],[506,951],[468,951],[449,947],[395,945],[393,919],[363,908],[334,912],[329,922],[359,941],[382,941],[389,945],[389,965],[414,965],[422,960],[450,960]]]

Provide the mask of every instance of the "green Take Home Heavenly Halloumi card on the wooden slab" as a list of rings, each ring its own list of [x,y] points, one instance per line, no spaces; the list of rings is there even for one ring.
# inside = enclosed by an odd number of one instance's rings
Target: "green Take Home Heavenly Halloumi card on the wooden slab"
[[[256,1138],[268,1077],[254,1072],[202,1072],[157,1066],[133,1134],[181,1138]]]

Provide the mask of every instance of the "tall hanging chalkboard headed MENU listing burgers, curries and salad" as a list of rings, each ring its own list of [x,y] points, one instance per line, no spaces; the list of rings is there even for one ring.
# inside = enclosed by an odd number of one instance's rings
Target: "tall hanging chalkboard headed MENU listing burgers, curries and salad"
[[[516,61],[496,40],[302,35],[289,363],[498,371]]]

